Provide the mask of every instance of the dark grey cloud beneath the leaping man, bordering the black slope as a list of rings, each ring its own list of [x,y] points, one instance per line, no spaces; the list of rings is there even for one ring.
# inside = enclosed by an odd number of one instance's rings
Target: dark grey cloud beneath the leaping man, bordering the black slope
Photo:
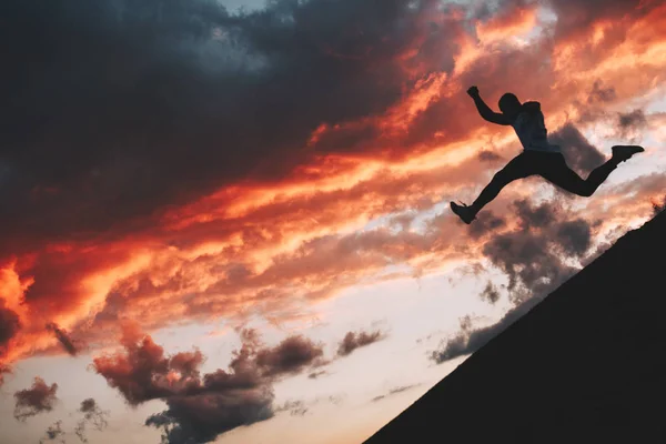
[[[475,329],[470,319],[464,319],[460,332],[430,352],[434,362],[478,350],[577,272],[566,260],[585,261],[591,253],[591,224],[582,219],[569,220],[571,214],[557,201],[534,205],[519,200],[514,202],[513,211],[518,228],[490,239],[483,254],[508,278],[507,291],[514,306],[490,326]],[[500,297],[497,289],[488,285],[482,297],[486,293]]]

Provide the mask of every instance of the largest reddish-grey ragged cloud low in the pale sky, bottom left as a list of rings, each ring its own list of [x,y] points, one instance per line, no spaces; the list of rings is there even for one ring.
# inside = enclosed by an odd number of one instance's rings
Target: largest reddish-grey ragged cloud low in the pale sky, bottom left
[[[130,405],[155,398],[167,403],[165,411],[145,421],[162,428],[167,442],[210,442],[238,426],[272,417],[273,383],[317,365],[323,355],[321,345],[302,336],[289,336],[271,347],[255,330],[238,333],[242,346],[234,351],[229,372],[202,375],[201,352],[165,355],[135,326],[125,327],[124,352],[98,356],[93,367]]]

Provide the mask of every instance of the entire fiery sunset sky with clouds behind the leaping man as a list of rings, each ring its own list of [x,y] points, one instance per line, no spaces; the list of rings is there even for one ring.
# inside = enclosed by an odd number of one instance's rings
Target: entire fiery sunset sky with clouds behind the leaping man
[[[0,10],[2,444],[361,443],[666,203],[660,1]],[[645,152],[465,225],[522,151],[471,85]]]

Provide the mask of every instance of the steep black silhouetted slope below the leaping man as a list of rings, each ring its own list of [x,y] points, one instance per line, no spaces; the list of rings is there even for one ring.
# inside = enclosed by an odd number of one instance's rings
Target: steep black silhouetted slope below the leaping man
[[[666,443],[666,212],[364,444]]]

